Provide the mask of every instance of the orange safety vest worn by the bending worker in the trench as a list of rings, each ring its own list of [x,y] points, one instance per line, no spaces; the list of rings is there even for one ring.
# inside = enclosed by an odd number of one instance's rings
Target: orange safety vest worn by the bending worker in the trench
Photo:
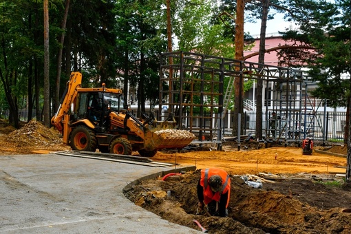
[[[220,175],[222,178],[222,189],[215,193],[209,186],[209,180],[212,175]],[[231,178],[229,178],[226,171],[218,168],[202,169],[200,185],[204,188],[204,204],[209,204],[212,200],[219,202],[221,194],[228,191],[228,200],[226,201],[226,208],[228,208],[229,198],[231,198]]]

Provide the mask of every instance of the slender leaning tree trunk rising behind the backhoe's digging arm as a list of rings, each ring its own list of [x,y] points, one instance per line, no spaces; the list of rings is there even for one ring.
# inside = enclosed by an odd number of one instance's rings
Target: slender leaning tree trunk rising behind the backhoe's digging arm
[[[65,14],[63,15],[63,20],[61,23],[61,29],[65,31],[68,9],[70,8],[70,0],[66,0],[65,4]],[[55,87],[55,95],[54,95],[54,110],[58,109],[60,105],[60,83],[61,83],[61,67],[62,67],[62,52],[63,52],[63,43],[65,42],[65,32],[62,32],[60,41],[58,42],[61,45],[61,48],[58,50],[57,56],[57,74],[56,74],[56,87]]]

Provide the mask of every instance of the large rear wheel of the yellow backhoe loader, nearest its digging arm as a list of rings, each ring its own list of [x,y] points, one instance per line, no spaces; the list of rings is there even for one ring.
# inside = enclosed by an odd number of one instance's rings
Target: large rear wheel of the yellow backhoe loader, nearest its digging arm
[[[85,126],[78,126],[72,131],[71,147],[79,151],[96,151],[96,136],[94,131]]]

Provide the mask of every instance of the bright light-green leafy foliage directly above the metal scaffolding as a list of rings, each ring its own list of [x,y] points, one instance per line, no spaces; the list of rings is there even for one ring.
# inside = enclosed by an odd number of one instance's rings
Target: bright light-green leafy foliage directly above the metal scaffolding
[[[226,34],[226,26],[218,18],[216,1],[184,1],[175,9],[173,33],[178,39],[178,50],[234,57],[234,35]]]

